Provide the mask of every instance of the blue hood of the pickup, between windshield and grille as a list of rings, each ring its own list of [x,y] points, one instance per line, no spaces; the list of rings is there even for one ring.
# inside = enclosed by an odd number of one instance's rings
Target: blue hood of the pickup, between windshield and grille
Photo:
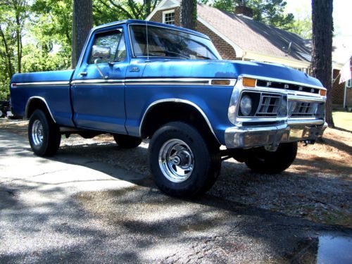
[[[285,65],[256,61],[170,60],[151,61],[144,68],[143,77],[164,78],[229,78],[241,75],[274,78],[322,87],[319,80]]]

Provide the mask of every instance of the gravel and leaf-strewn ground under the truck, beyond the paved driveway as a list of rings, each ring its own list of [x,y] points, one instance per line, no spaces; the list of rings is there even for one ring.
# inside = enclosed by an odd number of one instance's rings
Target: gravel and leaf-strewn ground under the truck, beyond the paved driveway
[[[26,121],[3,121],[0,127],[26,136]],[[94,139],[72,135],[62,140],[59,153],[89,157],[151,179],[147,148],[148,141],[126,150],[116,147],[109,135]],[[294,164],[279,175],[253,173],[233,159],[223,162],[220,177],[208,194],[315,222],[352,227],[351,161],[352,133],[328,128],[322,142],[300,144]]]

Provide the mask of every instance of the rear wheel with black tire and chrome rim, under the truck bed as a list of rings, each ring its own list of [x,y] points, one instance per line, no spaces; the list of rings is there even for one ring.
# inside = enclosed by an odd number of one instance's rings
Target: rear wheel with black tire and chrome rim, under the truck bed
[[[30,116],[28,139],[32,151],[38,156],[53,156],[60,146],[61,133],[49,115],[37,109]]]

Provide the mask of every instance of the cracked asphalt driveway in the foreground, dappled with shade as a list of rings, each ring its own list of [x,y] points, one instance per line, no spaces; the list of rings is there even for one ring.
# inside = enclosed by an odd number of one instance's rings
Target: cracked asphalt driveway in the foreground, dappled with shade
[[[351,229],[211,192],[173,199],[89,151],[39,158],[0,130],[0,263],[351,263]]]

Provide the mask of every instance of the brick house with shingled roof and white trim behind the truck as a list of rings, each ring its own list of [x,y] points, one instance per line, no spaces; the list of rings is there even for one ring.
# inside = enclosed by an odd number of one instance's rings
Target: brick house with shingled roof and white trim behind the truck
[[[310,40],[253,20],[248,9],[240,6],[230,13],[198,4],[196,30],[210,37],[225,60],[280,63],[309,73]],[[180,26],[180,1],[161,1],[146,20]],[[342,66],[342,63],[333,63],[335,78]],[[352,89],[346,89],[348,85],[351,87],[349,82],[334,82],[334,106],[343,107],[344,98],[347,106],[352,106]]]

